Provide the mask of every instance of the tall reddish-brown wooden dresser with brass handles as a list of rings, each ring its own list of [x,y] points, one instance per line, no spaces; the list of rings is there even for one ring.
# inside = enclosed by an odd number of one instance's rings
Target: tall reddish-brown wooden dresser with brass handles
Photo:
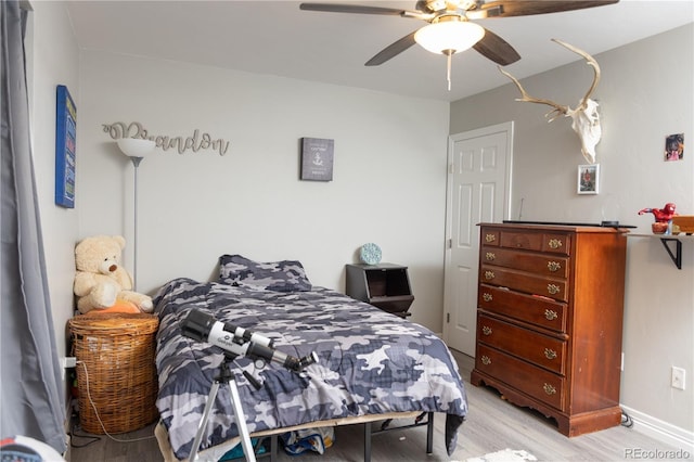
[[[626,230],[481,223],[471,382],[578,436],[619,425]]]

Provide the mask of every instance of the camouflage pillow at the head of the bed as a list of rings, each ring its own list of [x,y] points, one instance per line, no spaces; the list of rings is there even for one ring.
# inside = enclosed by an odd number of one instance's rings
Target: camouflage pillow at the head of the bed
[[[275,292],[307,292],[311,283],[300,261],[259,262],[241,255],[219,257],[219,282]]]

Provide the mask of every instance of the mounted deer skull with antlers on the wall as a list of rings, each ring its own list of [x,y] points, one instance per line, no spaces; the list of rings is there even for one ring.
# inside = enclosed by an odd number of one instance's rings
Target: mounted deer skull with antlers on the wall
[[[578,134],[581,140],[581,152],[583,153],[583,157],[591,164],[595,163],[595,145],[600,142],[600,138],[602,137],[602,128],[600,126],[600,114],[597,114],[597,102],[590,99],[591,93],[595,90],[597,82],[600,81],[600,66],[597,62],[583,50],[580,50],[569,43],[566,43],[562,40],[552,39],[556,43],[562,47],[567,48],[568,50],[580,54],[587,61],[589,66],[593,67],[595,73],[595,77],[593,78],[593,84],[586,92],[583,99],[579,102],[578,106],[575,110],[570,108],[567,105],[557,104],[551,100],[543,100],[539,98],[530,97],[520,86],[518,79],[514,76],[499,67],[499,70],[506,77],[509,77],[520,90],[520,94],[523,98],[517,98],[516,101],[525,101],[528,103],[538,103],[538,104],[548,104],[554,107],[552,111],[547,113],[544,116],[550,117],[548,121],[552,121],[557,118],[560,115],[564,115],[565,117],[570,117],[573,119],[571,128]]]

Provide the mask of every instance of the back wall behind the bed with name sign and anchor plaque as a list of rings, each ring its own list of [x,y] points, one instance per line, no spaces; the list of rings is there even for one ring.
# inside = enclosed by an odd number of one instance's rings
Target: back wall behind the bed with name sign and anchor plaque
[[[299,259],[342,291],[345,264],[375,242],[410,267],[411,319],[440,331],[448,103],[89,51],[80,84],[81,236],[133,242],[133,167],[102,124],[230,141],[223,156],[157,149],[140,165],[140,292],[216,278],[224,253]],[[299,181],[301,137],[335,140],[333,181]]]

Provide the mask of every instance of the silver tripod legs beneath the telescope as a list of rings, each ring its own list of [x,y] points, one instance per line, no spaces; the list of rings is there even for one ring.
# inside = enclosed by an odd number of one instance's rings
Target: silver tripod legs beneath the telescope
[[[243,414],[243,408],[241,407],[241,398],[239,396],[239,388],[236,388],[236,380],[234,374],[229,369],[229,361],[233,361],[228,357],[224,357],[224,360],[221,362],[219,375],[215,377],[215,382],[213,382],[211,387],[209,388],[209,395],[207,396],[207,402],[205,403],[205,410],[203,411],[203,416],[200,420],[200,424],[197,425],[197,433],[195,434],[195,439],[193,440],[193,448],[191,449],[191,453],[188,458],[189,462],[194,462],[197,458],[197,450],[200,449],[200,445],[203,440],[203,434],[205,433],[205,426],[207,426],[207,421],[209,420],[209,412],[215,406],[215,399],[217,398],[217,392],[219,392],[219,387],[222,384],[227,384],[229,386],[229,390],[231,392],[231,407],[234,410],[234,419],[236,421],[236,428],[239,428],[239,436],[241,437],[241,446],[243,447],[244,455],[246,457],[246,461],[256,462],[256,453],[253,449],[253,444],[250,442],[250,433],[248,432],[248,426],[246,425],[246,419]]]

